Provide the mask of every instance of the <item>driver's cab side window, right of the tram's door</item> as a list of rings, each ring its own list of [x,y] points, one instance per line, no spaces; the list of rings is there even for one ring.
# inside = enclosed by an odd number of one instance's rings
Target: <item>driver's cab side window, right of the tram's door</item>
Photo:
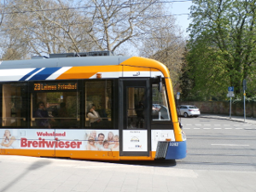
[[[166,86],[163,84],[161,92],[159,84],[152,84],[152,119],[170,120],[168,102],[166,100]]]

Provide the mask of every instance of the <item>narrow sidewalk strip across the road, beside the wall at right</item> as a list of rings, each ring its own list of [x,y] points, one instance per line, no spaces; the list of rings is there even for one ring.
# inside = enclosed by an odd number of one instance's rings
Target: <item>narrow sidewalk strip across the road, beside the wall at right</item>
[[[200,117],[201,118],[211,118],[211,119],[226,119],[226,120],[256,125],[256,118],[252,118],[252,117],[246,117],[246,119],[244,119],[243,116],[232,116],[231,115],[231,119],[230,119],[230,115],[227,115],[227,114],[201,114]]]

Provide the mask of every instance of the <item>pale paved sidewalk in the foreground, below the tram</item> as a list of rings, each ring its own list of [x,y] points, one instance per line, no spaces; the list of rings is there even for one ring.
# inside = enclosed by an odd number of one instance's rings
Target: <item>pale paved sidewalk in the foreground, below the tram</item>
[[[1,155],[1,192],[255,192],[256,172]]]

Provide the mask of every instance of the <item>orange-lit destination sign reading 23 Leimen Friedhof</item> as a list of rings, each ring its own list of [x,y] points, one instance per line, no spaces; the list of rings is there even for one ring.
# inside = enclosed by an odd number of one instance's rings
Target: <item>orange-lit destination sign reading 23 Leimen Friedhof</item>
[[[77,83],[34,84],[34,90],[77,90]]]

